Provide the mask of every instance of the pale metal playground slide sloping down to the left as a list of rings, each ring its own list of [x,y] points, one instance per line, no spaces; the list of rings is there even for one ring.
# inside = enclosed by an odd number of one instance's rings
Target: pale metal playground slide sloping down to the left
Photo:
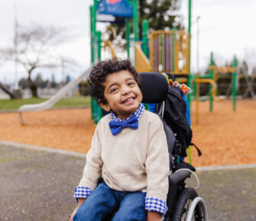
[[[76,78],[76,80],[69,82],[67,85],[61,88],[60,91],[58,91],[57,94],[53,95],[53,97],[51,97],[49,100],[44,101],[40,104],[24,104],[21,107],[19,107],[18,114],[20,116],[21,124],[23,123],[22,115],[21,115],[22,112],[47,110],[50,107],[53,107],[53,105],[56,104],[57,101],[60,101],[61,98],[65,97],[65,95],[69,91],[71,91],[73,88],[76,87],[76,85],[79,84],[79,82],[82,82],[85,78],[88,78],[91,70],[92,70],[92,66],[90,66],[89,69],[86,70],[86,72],[83,72],[83,74],[80,75],[79,78]]]

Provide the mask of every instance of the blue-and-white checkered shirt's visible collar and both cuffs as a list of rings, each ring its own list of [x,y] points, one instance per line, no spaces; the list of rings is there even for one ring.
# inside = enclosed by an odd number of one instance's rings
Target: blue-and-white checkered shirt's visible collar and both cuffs
[[[145,107],[143,104],[140,104],[138,109],[134,112],[135,117],[137,117],[138,120],[140,120],[141,115],[143,114],[143,111],[145,110]],[[122,119],[118,118],[114,112],[110,113],[111,120],[119,121],[121,122]],[[132,116],[131,115],[131,116]],[[131,117],[130,116],[130,117]],[[125,120],[128,120],[130,117],[126,118]],[[89,187],[76,187],[74,197],[76,197],[76,200],[78,198],[86,198],[89,197],[89,194],[91,194],[92,191]],[[154,211],[157,213],[165,214],[167,212],[167,204],[156,197],[146,197],[145,198],[145,209],[147,211]]]

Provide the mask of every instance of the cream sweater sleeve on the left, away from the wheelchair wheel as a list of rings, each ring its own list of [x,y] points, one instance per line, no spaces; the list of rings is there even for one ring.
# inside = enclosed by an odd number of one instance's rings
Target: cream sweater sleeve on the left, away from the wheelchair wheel
[[[92,143],[89,152],[86,155],[86,165],[83,168],[83,178],[79,182],[79,187],[87,187],[93,191],[98,184],[99,178],[102,175],[102,146],[99,142],[99,127],[100,122],[96,127],[96,131],[92,136]]]

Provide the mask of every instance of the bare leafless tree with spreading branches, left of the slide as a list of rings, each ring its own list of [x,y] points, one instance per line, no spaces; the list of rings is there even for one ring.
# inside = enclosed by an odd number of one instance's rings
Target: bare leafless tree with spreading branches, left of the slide
[[[60,56],[56,47],[66,40],[63,29],[57,27],[19,26],[15,34],[14,45],[0,50],[5,60],[13,60],[24,66],[28,72],[28,82],[33,97],[37,97],[37,85],[31,75],[38,68],[60,66]]]

